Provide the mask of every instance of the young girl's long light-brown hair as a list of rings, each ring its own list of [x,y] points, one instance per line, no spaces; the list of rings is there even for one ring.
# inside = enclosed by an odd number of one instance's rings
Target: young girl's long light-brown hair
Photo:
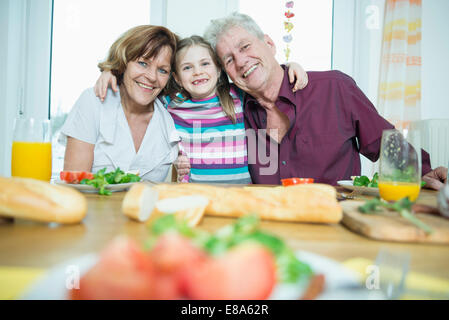
[[[215,66],[220,70],[220,76],[218,78],[217,82],[217,95],[218,99],[220,100],[221,107],[223,108],[223,112],[226,114],[226,116],[232,121],[232,123],[236,123],[236,116],[235,116],[235,105],[234,100],[231,97],[230,90],[231,86],[229,85],[228,75],[223,70],[220,60],[218,59],[218,56],[215,54],[214,49],[212,49],[209,42],[204,40],[203,37],[200,36],[191,36],[188,38],[184,38],[181,41],[178,42],[178,47],[176,50],[175,56],[175,66],[173,70],[174,72],[177,72],[176,70],[176,63],[179,58],[179,53],[183,49],[188,49],[193,46],[201,46],[203,48],[206,48],[209,51],[209,54],[212,58],[212,61],[214,62]],[[168,95],[172,100],[178,103],[182,103],[187,99],[191,98],[191,95],[189,92],[187,92],[184,88],[178,85],[178,83],[175,81],[174,77],[170,77],[170,80],[168,81],[167,85],[167,91]],[[178,94],[181,94],[182,97],[180,97]]]

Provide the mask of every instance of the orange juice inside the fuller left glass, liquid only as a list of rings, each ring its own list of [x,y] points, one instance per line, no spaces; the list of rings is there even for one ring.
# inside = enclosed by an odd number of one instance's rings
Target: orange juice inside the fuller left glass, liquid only
[[[14,141],[12,143],[11,175],[50,181],[51,143]]]

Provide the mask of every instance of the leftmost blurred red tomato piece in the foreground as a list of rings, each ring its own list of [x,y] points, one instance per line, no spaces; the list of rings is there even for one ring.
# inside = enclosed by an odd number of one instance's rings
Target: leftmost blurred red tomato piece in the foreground
[[[150,257],[132,240],[118,238],[70,292],[79,300],[143,300],[155,298],[155,274]]]

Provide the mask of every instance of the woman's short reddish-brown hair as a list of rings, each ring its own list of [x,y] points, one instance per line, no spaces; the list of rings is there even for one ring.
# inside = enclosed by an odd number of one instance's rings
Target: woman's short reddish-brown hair
[[[170,64],[173,69],[178,41],[179,37],[165,27],[142,25],[131,28],[112,44],[108,57],[98,64],[98,68],[101,71],[110,70],[117,78],[117,84],[120,85],[130,61],[140,57],[153,58],[164,47],[169,47],[172,52]]]

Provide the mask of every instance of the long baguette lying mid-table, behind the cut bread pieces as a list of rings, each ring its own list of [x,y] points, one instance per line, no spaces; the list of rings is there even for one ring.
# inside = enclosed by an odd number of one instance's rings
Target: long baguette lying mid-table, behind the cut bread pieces
[[[330,185],[224,188],[204,184],[159,184],[158,199],[203,195],[210,200],[206,215],[241,217],[255,213],[261,219],[292,222],[338,223],[343,211]]]

